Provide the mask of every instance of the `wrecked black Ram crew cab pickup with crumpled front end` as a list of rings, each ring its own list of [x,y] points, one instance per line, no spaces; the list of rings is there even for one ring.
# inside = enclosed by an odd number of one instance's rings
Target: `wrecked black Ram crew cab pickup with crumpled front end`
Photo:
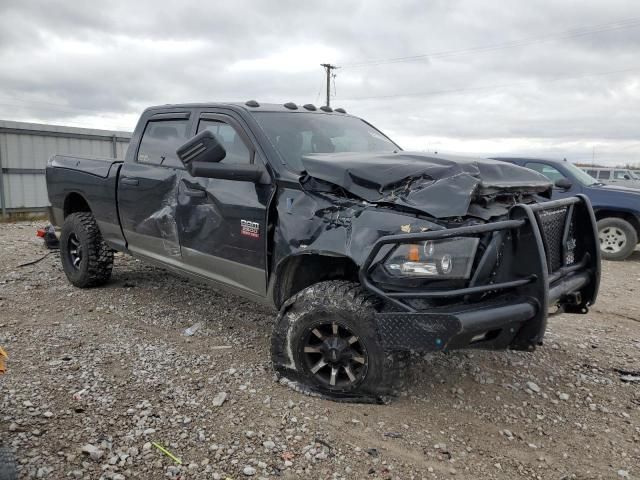
[[[343,109],[149,108],[124,162],[54,156],[47,185],[71,283],[107,282],[118,250],[271,305],[275,369],[331,398],[392,394],[411,351],[534,350],[598,291],[586,197]]]

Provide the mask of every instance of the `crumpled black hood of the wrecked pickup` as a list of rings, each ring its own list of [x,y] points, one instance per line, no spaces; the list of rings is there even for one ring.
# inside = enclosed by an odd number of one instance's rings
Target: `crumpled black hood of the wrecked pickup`
[[[549,180],[498,160],[420,152],[327,153],[302,157],[306,173],[372,203],[394,203],[435,218],[464,216],[476,195],[550,193]]]

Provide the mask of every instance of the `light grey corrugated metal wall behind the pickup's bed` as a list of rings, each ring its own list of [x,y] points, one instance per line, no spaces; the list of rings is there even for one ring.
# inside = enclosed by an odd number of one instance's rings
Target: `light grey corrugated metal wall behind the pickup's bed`
[[[0,120],[0,207],[38,211],[49,205],[45,168],[51,155],[124,158],[131,134]]]

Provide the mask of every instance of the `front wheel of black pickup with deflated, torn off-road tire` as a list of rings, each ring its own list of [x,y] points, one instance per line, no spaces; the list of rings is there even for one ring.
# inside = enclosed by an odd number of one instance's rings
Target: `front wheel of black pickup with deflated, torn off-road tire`
[[[359,284],[348,281],[320,282],[300,291],[285,302],[274,327],[275,370],[298,387],[334,400],[379,403],[395,396],[402,387],[406,354],[383,349],[374,323],[378,303]],[[336,349],[340,353],[329,354],[325,345],[336,342],[342,344]],[[307,348],[323,353],[308,353]],[[312,371],[325,360],[325,366]]]

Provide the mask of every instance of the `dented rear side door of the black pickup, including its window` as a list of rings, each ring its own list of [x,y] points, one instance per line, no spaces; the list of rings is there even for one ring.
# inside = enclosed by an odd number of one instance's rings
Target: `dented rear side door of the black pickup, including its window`
[[[127,246],[162,263],[181,263],[176,204],[182,163],[176,149],[190,127],[188,113],[150,117],[133,161],[120,170],[118,207]]]

